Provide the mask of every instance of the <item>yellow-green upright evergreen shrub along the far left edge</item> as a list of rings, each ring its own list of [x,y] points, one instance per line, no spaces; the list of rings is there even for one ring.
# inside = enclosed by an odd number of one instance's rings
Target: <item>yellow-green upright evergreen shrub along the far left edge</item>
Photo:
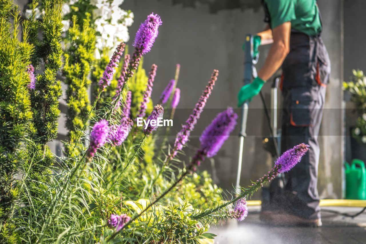
[[[22,143],[32,116],[26,72],[32,46],[18,41],[19,13],[12,1],[0,2],[0,19],[0,243],[15,243],[11,217],[19,190],[14,176],[25,156]],[[25,40],[27,28],[24,23]]]

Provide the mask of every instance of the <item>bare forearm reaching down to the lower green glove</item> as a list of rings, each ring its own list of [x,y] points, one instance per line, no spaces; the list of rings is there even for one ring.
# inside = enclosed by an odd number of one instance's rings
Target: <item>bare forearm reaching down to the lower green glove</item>
[[[258,72],[259,78],[268,80],[281,67],[288,54],[288,48],[282,43],[275,43],[269,50],[267,59]]]

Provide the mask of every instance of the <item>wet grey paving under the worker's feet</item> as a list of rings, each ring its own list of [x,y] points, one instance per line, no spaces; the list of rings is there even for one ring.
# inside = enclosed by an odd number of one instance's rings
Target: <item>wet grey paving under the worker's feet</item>
[[[250,206],[244,221],[229,220],[220,226],[212,226],[217,234],[217,244],[366,244],[366,212],[355,217],[362,207],[322,207],[320,228],[284,227],[265,224],[259,220],[260,206]]]

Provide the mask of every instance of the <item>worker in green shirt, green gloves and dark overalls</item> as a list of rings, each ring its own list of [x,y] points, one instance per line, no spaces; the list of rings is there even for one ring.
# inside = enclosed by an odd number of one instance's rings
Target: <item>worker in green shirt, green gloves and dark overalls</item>
[[[317,138],[330,60],[321,38],[320,12],[316,0],[262,0],[262,4],[268,26],[253,38],[254,55],[258,54],[259,45],[272,46],[258,77],[240,89],[238,106],[259,94],[266,80],[282,66],[281,151],[303,142],[310,145],[310,150],[285,173],[283,189],[279,189],[278,181],[271,182],[270,204],[262,206],[261,219],[277,224],[321,226]]]

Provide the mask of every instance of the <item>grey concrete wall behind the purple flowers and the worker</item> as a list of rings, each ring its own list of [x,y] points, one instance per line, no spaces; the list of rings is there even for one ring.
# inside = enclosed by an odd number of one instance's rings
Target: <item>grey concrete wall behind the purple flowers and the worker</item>
[[[324,23],[324,42],[328,47],[332,61],[331,83],[326,94],[326,111],[322,123],[320,144],[321,160],[318,188],[324,198],[341,196],[343,131],[341,108],[343,80],[343,42],[342,42],[342,2],[341,0],[319,0]],[[243,51],[241,50],[244,35],[256,33],[265,27],[262,10],[241,11],[221,10],[216,14],[209,13],[207,4],[197,4],[195,8],[183,8],[173,5],[171,0],[126,0],[122,8],[130,9],[135,14],[135,23],[130,28],[133,39],[146,15],[157,13],[163,20],[160,33],[152,48],[145,56],[145,68],[152,63],[158,65],[157,77],[153,89],[153,100],[158,101],[160,92],[169,79],[173,78],[175,64],[182,65],[178,87],[182,99],[176,113],[175,124],[181,124],[198,100],[213,69],[220,71],[219,79],[208,100],[202,118],[198,121],[195,136],[191,138],[187,155],[192,156],[194,148],[199,146],[198,135],[209,121],[227,106],[236,108],[236,94],[242,86]],[[131,44],[132,40],[128,44]],[[261,67],[269,47],[261,47],[261,58],[257,67]],[[267,102],[269,86],[263,91]],[[269,104],[269,103],[268,103]],[[239,110],[237,110],[239,113]],[[272,166],[272,158],[262,149],[262,139],[268,135],[267,121],[259,97],[250,103],[247,125],[249,136],[245,139],[244,161],[241,184],[250,184]],[[214,157],[214,164],[207,160],[202,168],[214,173],[214,179],[224,188],[235,184],[238,160],[238,137],[233,133],[223,149]],[[212,167],[214,165],[214,167]],[[213,170],[214,169],[214,170]],[[259,198],[256,195],[254,198]]]

